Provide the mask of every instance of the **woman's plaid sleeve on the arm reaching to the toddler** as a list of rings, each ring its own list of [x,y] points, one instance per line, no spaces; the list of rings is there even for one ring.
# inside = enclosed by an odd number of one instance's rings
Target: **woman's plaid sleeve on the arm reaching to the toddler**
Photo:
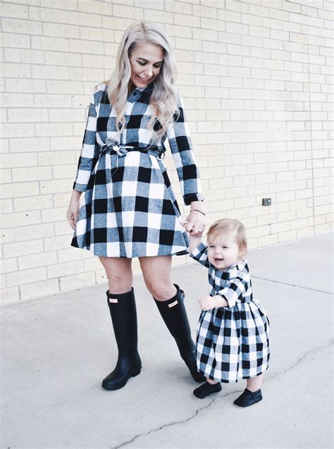
[[[203,196],[181,98],[178,102],[178,110],[180,116],[168,126],[167,137],[178,172],[183,200],[189,205],[192,201],[202,201]]]

